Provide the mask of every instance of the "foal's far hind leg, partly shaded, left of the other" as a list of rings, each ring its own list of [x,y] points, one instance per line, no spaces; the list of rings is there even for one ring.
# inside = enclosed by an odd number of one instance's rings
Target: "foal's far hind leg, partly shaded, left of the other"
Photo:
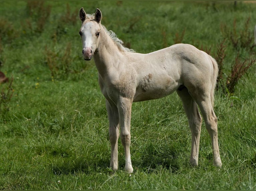
[[[187,88],[177,90],[176,92],[182,100],[183,108],[187,115],[189,127],[192,134],[191,155],[189,162],[191,165],[197,166],[202,117],[199,113],[196,101],[188,93]]]

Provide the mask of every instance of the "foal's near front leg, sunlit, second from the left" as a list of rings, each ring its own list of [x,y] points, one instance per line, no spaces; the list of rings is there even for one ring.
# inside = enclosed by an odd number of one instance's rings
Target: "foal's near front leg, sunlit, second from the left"
[[[125,152],[125,171],[128,173],[133,172],[131,154],[130,154],[130,144],[131,144],[131,110],[132,110],[132,100],[125,97],[120,97],[117,104],[119,112],[119,120],[121,126],[121,142],[124,147]]]

